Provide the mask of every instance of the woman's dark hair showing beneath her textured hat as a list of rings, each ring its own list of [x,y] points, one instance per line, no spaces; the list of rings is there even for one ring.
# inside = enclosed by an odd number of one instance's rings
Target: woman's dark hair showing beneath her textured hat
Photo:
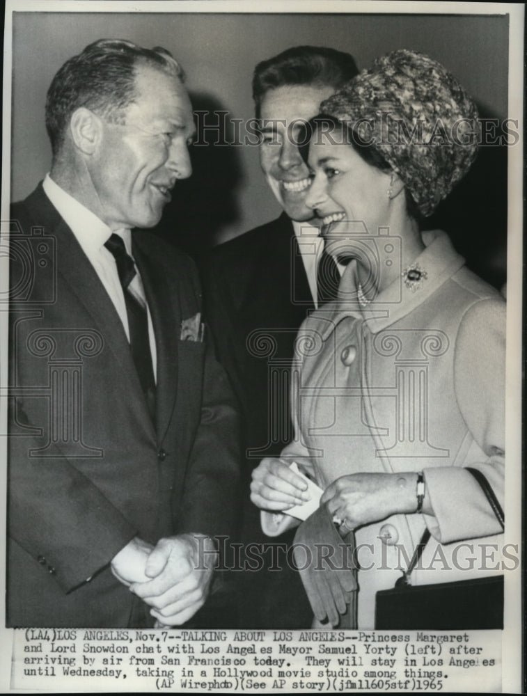
[[[338,141],[336,142],[339,144],[345,143],[346,145],[350,145],[366,164],[380,169],[380,171],[385,173],[393,171],[393,167],[384,159],[381,152],[371,143],[367,144],[363,141],[355,125],[343,123],[338,120],[338,118],[329,116],[326,113],[320,113],[318,116],[311,118],[306,123],[305,133],[301,134],[301,145],[299,145],[299,150],[306,164],[309,154],[309,141],[318,129],[324,129],[324,133],[331,133],[333,139],[338,137]],[[420,222],[423,219],[423,215],[420,213],[418,205],[414,198],[412,198],[407,187],[404,187],[404,197],[406,198],[409,216],[414,218],[417,222]]]

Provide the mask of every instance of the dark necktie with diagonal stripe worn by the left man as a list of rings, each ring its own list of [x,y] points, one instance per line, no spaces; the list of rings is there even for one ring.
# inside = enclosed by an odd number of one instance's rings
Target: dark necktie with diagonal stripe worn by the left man
[[[125,242],[119,235],[111,235],[104,244],[116,260],[117,273],[125,296],[128,330],[130,335],[130,350],[136,366],[141,388],[148,404],[152,420],[155,418],[155,379],[148,338],[148,315],[146,308],[129,290],[136,275],[134,260],[127,254]]]

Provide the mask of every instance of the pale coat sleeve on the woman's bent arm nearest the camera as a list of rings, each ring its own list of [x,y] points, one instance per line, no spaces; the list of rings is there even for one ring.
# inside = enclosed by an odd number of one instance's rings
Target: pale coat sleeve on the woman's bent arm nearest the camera
[[[473,438],[461,466],[427,468],[434,510],[432,535],[443,544],[501,533],[479,484],[464,467],[479,469],[503,505],[505,476],[505,303],[485,299],[466,311],[455,342],[454,384],[459,410]]]

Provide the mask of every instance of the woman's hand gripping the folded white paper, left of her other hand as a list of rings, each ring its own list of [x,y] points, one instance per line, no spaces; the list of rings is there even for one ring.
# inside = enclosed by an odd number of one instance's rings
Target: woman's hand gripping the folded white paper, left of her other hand
[[[310,500],[307,487],[285,461],[266,457],[253,470],[251,500],[262,510],[281,512]]]

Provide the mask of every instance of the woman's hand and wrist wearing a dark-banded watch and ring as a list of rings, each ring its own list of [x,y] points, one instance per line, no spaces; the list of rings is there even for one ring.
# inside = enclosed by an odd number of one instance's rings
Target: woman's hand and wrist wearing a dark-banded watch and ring
[[[329,512],[349,530],[386,519],[393,514],[416,512],[416,473],[359,473],[333,481],[320,498]]]

